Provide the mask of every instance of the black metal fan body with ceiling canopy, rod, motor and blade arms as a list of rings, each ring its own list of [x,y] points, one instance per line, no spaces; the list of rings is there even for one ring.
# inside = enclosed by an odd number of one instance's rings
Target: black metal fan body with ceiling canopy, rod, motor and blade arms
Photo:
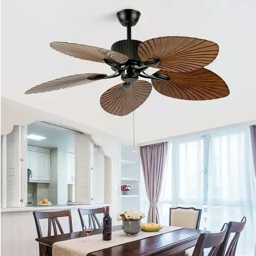
[[[132,27],[135,26],[140,18],[140,12],[134,9],[124,9],[116,14],[120,24],[127,28],[127,39],[115,42],[111,50],[122,53],[129,57],[126,63],[118,65],[114,61],[104,59],[103,61],[111,66],[114,71],[118,71],[121,79],[124,82],[132,83],[139,79],[139,77],[156,79],[156,80],[169,80],[166,75],[151,76],[144,71],[149,67],[157,66],[160,62],[159,59],[150,59],[143,62],[138,55],[138,47],[142,41],[132,39]],[[140,74],[140,73],[143,74]],[[106,76],[105,78],[109,78]]]

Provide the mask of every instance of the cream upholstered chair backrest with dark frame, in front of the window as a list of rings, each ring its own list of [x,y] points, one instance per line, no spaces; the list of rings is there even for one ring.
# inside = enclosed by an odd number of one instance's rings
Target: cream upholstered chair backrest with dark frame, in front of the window
[[[170,208],[169,225],[175,227],[199,229],[202,209],[194,207]]]

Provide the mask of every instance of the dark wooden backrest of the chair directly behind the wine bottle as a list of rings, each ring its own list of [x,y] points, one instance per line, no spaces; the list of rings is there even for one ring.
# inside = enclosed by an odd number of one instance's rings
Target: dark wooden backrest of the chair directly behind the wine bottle
[[[78,209],[78,213],[80,216],[82,230],[84,230],[84,226],[86,226],[83,216],[88,216],[89,225],[92,225],[94,229],[101,228],[101,224],[100,224],[96,214],[105,214],[104,207],[96,208],[96,209]]]

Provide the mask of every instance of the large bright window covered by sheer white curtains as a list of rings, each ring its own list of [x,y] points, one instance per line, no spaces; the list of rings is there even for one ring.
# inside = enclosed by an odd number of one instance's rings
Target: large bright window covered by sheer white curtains
[[[249,129],[173,140],[168,145],[158,204],[161,224],[168,225],[169,207],[177,206],[202,208],[200,229],[212,232],[246,216],[236,255],[253,255],[256,188]],[[141,210],[147,212],[144,189]]]

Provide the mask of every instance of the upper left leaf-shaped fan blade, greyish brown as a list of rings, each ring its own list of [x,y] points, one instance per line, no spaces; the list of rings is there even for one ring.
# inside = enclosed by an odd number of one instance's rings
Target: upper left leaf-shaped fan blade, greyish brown
[[[51,42],[50,46],[54,50],[69,56],[96,62],[103,62],[103,59],[110,59],[116,63],[123,64],[129,59],[126,55],[119,52],[94,46],[72,44],[70,42]]]

